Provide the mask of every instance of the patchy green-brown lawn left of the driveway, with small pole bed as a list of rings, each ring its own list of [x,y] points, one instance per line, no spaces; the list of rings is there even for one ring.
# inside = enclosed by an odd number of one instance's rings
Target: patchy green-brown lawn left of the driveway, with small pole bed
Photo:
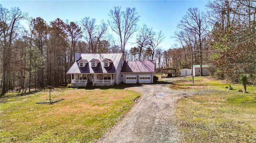
[[[49,91],[49,90],[48,90]],[[139,96],[123,89],[55,89],[55,104],[35,104],[49,92],[7,94],[0,103],[0,142],[92,142],[114,125]]]

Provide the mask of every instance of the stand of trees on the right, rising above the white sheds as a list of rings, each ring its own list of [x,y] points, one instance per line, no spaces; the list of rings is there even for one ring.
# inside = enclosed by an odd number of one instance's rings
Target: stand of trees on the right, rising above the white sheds
[[[255,78],[256,1],[215,0],[206,7],[205,12],[189,8],[180,20],[174,35],[180,47],[166,54],[171,55],[173,67],[191,69],[193,60],[197,65],[211,65],[217,78],[236,81],[240,73]]]

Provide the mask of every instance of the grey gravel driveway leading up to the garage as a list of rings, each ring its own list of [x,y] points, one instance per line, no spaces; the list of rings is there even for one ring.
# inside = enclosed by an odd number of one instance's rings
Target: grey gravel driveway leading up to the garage
[[[175,78],[169,78],[169,80]],[[170,84],[125,88],[140,92],[134,107],[95,143],[176,143],[175,102],[192,92],[171,90]]]

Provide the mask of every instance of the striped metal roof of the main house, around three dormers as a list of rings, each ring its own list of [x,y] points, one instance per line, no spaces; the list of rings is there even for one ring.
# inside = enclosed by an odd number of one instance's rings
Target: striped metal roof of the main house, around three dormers
[[[70,67],[67,74],[74,73],[115,73],[118,63],[121,58],[123,58],[122,53],[82,53],[81,58],[87,61],[91,61],[97,59],[99,62],[104,59],[111,59],[113,61],[110,63],[109,67],[104,67],[104,63],[100,62],[96,67],[92,67],[91,63],[86,63],[84,67],[79,67],[77,62]]]

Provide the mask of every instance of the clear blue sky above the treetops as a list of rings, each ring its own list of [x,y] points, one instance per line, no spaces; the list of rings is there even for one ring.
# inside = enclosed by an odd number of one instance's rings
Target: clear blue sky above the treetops
[[[136,8],[140,15],[139,26],[153,27],[154,31],[162,30],[165,35],[160,44],[162,49],[169,49],[175,43],[170,37],[177,30],[176,26],[188,10],[197,7],[206,10],[208,0],[0,0],[4,8],[19,7],[33,18],[41,17],[48,24],[60,18],[63,21],[79,22],[84,17],[95,18],[97,22],[109,19],[109,11],[114,6]],[[136,38],[136,35],[133,36]],[[130,49],[133,45],[127,45]]]

